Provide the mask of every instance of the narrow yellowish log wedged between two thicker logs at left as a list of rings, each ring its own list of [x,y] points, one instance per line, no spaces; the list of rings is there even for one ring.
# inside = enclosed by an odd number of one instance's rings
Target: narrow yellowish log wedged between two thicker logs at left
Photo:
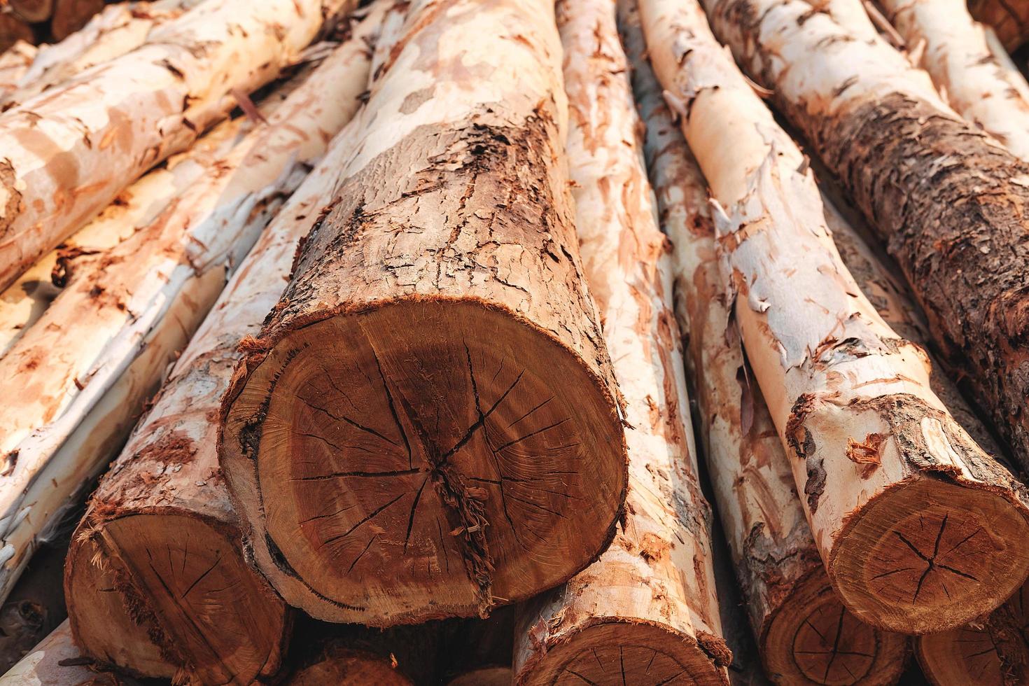
[[[0,293],[0,357],[43,316],[62,288],[72,281],[80,256],[105,253],[149,226],[169,203],[232,150],[238,142],[241,123],[240,119],[219,123],[188,150],[172,155],[165,165],[144,174],[96,219]]]

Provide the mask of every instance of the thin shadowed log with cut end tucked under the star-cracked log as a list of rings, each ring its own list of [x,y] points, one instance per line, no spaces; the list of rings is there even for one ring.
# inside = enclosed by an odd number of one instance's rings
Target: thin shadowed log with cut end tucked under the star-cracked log
[[[859,623],[832,592],[719,287],[706,181],[646,63],[634,3],[619,7],[650,179],[674,246],[676,315],[688,332],[703,454],[765,672],[779,684],[892,683],[907,639]]]

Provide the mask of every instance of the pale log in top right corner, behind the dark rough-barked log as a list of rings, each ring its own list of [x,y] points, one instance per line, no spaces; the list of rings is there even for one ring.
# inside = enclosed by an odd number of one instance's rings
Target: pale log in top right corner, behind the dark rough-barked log
[[[879,1],[903,36],[909,55],[920,56],[919,65],[951,107],[1029,160],[1025,77],[994,58],[983,26],[972,20],[964,0]]]

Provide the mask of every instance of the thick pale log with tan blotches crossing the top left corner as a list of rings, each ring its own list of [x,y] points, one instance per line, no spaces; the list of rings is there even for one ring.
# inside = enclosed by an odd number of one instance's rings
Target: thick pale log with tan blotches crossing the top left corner
[[[0,115],[0,287],[275,78],[351,0],[212,0]]]

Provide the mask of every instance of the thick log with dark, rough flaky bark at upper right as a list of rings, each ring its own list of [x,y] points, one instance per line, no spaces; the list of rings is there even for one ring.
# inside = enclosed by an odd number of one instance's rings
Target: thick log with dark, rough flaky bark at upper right
[[[1029,467],[1029,231],[1021,210],[1029,164],[951,112],[892,47],[854,40],[809,2],[705,2],[737,59],[774,88],[887,244],[943,362]]]

